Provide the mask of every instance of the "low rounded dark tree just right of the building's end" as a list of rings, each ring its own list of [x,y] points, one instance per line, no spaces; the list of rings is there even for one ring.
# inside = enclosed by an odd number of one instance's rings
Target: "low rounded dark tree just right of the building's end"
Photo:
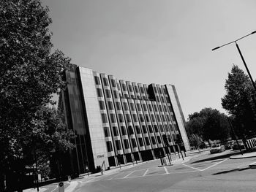
[[[196,134],[204,140],[225,140],[230,137],[226,115],[211,108],[189,115],[187,129],[190,135]]]

